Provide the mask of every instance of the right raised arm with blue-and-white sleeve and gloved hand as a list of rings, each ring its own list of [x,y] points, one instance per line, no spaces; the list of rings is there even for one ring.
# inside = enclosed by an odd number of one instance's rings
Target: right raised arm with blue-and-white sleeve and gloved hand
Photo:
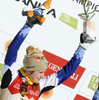
[[[45,91],[48,91],[60,85],[75,72],[75,70],[77,69],[77,67],[79,66],[79,64],[83,59],[86,49],[89,47],[90,44],[94,42],[94,41],[89,41],[89,39],[87,38],[88,34],[86,34],[85,38],[82,38],[83,34],[84,33],[81,34],[80,44],[77,50],[75,51],[73,57],[71,58],[71,60],[60,71],[50,76],[47,76],[40,81],[41,94]]]

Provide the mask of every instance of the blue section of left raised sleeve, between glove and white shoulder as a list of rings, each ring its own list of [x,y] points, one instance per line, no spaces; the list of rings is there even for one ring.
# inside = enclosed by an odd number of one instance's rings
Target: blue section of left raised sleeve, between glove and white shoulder
[[[21,46],[24,39],[26,38],[26,36],[29,34],[30,30],[31,27],[25,24],[22,27],[22,29],[18,32],[18,34],[15,36],[10,46],[8,47],[8,51],[5,58],[5,65],[11,67],[11,65],[14,62],[16,62],[18,49]]]

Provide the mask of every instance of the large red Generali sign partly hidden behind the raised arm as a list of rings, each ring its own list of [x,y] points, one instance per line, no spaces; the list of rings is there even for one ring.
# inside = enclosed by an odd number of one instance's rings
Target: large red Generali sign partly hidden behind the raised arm
[[[45,72],[45,76],[61,70],[62,67],[68,63],[67,60],[60,58],[52,53],[49,53],[48,51],[43,50],[43,54],[48,61],[48,68]],[[74,89],[84,71],[85,68],[79,66],[77,70],[73,73],[73,75],[66,81],[64,81],[63,84]]]

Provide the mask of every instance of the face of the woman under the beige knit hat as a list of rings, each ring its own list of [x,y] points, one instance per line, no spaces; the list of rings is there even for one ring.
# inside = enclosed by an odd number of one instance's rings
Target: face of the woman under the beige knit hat
[[[28,77],[33,83],[39,83],[40,79],[44,78],[45,70],[34,71],[33,73],[29,74]]]

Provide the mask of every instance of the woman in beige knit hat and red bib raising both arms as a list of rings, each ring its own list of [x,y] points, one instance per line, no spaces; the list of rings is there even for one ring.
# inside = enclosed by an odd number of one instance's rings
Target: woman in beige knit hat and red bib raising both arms
[[[0,100],[38,100],[43,92],[68,79],[82,61],[85,50],[89,46],[87,46],[89,43],[84,43],[87,38],[83,40],[83,43],[80,43],[71,60],[60,71],[50,76],[44,77],[44,72],[47,69],[44,55],[39,49],[32,46],[26,49],[23,67],[16,70],[17,51],[32,27],[35,24],[41,25],[45,21],[42,16],[43,10],[43,8],[39,8],[34,11],[22,12],[23,15],[28,16],[27,22],[8,47],[2,70]]]

